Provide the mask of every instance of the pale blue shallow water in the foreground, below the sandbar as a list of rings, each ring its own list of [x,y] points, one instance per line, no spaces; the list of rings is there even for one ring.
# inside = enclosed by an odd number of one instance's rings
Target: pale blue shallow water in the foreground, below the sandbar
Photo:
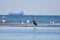
[[[60,27],[0,27],[0,40],[60,40]]]

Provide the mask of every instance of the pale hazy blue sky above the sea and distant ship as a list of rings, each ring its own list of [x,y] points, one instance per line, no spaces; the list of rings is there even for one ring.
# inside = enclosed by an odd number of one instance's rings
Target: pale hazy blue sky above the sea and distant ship
[[[0,0],[0,14],[60,15],[60,0]]]

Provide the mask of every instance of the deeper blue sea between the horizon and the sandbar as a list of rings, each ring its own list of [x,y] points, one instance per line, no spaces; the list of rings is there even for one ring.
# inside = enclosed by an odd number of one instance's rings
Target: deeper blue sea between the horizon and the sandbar
[[[27,20],[32,22],[33,16],[36,23],[49,23],[50,21],[60,23],[60,15],[0,15],[0,22],[2,20],[5,20],[6,23],[26,22]]]

